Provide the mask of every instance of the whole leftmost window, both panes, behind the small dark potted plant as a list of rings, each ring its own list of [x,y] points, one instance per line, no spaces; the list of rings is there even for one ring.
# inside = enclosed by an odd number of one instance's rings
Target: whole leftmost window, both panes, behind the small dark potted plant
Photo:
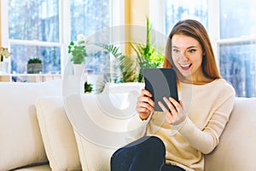
[[[11,72],[26,73],[26,63],[38,57],[43,73],[61,72],[58,0],[9,0]]]

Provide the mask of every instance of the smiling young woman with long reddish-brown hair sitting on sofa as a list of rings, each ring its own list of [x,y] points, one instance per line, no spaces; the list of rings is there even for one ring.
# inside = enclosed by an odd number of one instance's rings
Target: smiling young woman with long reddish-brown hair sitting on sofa
[[[182,20],[166,43],[164,67],[178,77],[179,101],[154,102],[143,89],[137,100],[143,138],[113,154],[112,170],[204,169],[204,154],[216,145],[229,120],[235,90],[218,73],[207,31],[196,20]],[[162,111],[154,111],[159,103]],[[166,108],[165,106],[168,106]]]

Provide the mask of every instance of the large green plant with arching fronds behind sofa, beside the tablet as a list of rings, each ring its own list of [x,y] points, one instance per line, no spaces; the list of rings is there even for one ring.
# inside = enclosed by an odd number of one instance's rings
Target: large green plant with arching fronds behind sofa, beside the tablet
[[[105,83],[143,83],[143,69],[160,67],[165,56],[158,51],[151,41],[151,26],[147,18],[146,43],[130,43],[131,48],[137,54],[137,58],[131,58],[119,51],[119,47],[113,44],[96,43],[96,46],[104,48],[116,59],[111,67],[111,73],[105,73],[102,80],[96,83],[96,93],[101,93]]]

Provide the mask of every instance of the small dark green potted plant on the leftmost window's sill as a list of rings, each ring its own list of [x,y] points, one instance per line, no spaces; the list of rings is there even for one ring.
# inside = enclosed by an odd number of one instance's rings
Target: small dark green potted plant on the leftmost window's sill
[[[38,57],[32,57],[27,61],[27,73],[36,74],[43,71],[43,63]]]

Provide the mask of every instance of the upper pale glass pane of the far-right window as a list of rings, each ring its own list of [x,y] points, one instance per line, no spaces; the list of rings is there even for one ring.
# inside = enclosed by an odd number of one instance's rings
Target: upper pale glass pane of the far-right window
[[[256,2],[224,0],[220,5],[220,38],[256,36]]]

